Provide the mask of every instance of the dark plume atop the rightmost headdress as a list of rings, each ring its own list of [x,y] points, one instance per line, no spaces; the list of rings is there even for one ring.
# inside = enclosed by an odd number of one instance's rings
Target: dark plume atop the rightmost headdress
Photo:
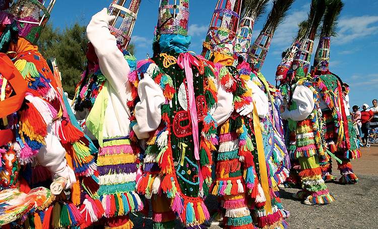
[[[327,0],[323,19],[322,36],[336,36],[336,28],[340,13],[344,7],[342,0]]]

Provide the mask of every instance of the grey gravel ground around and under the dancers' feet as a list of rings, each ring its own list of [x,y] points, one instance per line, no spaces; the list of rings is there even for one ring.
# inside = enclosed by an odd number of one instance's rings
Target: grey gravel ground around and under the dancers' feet
[[[352,162],[354,172],[359,178],[357,184],[327,183],[336,199],[331,204],[307,206],[291,197],[298,189],[286,188],[280,191],[283,206],[291,214],[287,219],[290,229],[378,228],[378,146],[362,148],[361,151],[362,158]],[[334,175],[337,173],[335,168]],[[214,197],[208,197],[206,202],[210,209],[217,205]],[[141,217],[132,219],[135,228],[143,228]],[[182,228],[178,221],[176,225],[176,228]],[[151,219],[145,220],[144,228],[152,228]]]

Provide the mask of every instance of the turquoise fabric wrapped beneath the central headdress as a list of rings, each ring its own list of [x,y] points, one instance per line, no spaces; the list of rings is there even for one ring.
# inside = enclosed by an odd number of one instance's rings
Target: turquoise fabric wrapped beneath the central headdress
[[[187,48],[191,44],[191,39],[191,36],[183,36],[179,34],[162,34],[159,38],[160,52],[187,52]]]

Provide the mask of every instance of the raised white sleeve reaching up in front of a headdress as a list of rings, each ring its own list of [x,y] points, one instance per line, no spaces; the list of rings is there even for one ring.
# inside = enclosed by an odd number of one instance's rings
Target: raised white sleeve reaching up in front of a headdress
[[[126,91],[131,87],[126,80],[130,67],[118,49],[115,37],[108,29],[109,21],[113,18],[114,16],[107,15],[105,8],[95,14],[87,26],[87,36],[95,48],[101,72],[118,93],[121,101],[126,103]]]

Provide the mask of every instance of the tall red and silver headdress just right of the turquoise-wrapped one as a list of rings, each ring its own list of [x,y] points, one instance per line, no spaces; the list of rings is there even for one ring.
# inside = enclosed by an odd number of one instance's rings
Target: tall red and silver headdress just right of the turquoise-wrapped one
[[[203,43],[203,55],[210,51],[233,56],[242,0],[218,0]]]

